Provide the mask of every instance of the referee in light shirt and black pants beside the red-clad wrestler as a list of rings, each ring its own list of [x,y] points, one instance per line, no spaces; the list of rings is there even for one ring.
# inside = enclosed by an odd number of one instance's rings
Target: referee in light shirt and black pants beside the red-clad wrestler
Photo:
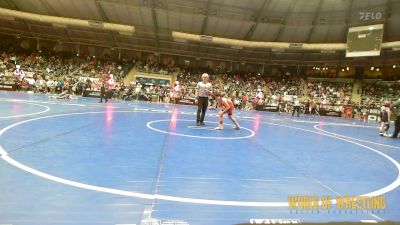
[[[202,81],[196,86],[196,102],[197,102],[197,126],[204,126],[204,117],[208,107],[208,96],[212,94],[212,84],[208,82],[209,76],[207,73],[201,75]]]

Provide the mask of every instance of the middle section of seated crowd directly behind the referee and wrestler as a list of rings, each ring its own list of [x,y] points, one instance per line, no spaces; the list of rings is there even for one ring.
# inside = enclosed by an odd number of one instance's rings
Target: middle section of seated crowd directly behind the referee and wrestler
[[[181,70],[178,80],[182,98],[194,98],[199,73]],[[225,92],[238,109],[260,109],[265,105],[284,107],[287,96],[302,95],[304,79],[289,77],[268,77],[251,72],[222,72],[212,74],[210,80],[214,89]],[[213,102],[213,101],[212,101]],[[215,105],[211,104],[212,107]]]

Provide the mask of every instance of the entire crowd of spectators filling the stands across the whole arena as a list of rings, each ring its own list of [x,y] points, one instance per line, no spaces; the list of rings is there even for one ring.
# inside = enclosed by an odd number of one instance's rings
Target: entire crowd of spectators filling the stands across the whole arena
[[[103,82],[112,83],[113,97],[126,100],[176,102],[175,99],[194,99],[199,74],[208,72],[214,89],[230,96],[238,109],[260,109],[265,105],[278,106],[290,111],[294,97],[301,99],[304,108],[335,108],[344,110],[352,105],[358,111],[378,108],[385,100],[398,98],[399,83],[364,83],[360,89],[361,104],[354,104],[352,82],[321,81],[293,76],[268,76],[251,72],[232,72],[210,68],[175,67],[154,60],[122,59],[110,57],[76,56],[68,54],[19,52],[2,49],[0,55],[1,83],[15,83],[18,90],[59,94],[84,95],[85,91],[98,91]],[[125,86],[126,74],[135,67],[138,71],[177,75],[170,85],[141,84],[133,81]],[[215,105],[211,104],[212,107]],[[356,110],[356,111],[357,111]]]

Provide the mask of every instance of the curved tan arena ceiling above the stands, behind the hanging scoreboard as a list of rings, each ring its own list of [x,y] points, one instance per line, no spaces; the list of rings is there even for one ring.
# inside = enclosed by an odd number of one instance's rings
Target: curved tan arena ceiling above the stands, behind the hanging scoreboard
[[[400,40],[400,0],[0,0],[0,7],[42,15],[133,25],[132,35],[0,17],[0,33],[110,48],[277,64],[392,63],[400,51],[346,59],[344,52],[232,48],[174,39],[172,31],[249,41],[345,43],[351,26],[384,24]],[[367,20],[366,14],[369,13]]]

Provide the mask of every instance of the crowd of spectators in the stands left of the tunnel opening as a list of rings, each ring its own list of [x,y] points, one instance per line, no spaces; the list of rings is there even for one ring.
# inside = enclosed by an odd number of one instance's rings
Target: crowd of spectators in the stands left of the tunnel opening
[[[109,57],[72,56],[48,52],[19,52],[3,49],[0,77],[3,84],[15,89],[59,94],[65,90],[82,95],[85,90],[99,90],[104,79],[112,79],[119,89],[132,61],[113,61]]]

